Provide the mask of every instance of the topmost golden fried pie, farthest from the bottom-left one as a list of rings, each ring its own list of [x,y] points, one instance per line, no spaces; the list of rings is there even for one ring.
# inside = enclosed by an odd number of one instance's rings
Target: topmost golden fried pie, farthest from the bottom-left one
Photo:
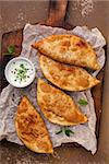
[[[51,35],[32,45],[39,52],[57,61],[99,70],[92,46],[75,35]]]

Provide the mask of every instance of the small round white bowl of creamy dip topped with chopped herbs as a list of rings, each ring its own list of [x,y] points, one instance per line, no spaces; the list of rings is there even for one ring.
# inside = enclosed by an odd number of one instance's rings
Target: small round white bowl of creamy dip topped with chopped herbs
[[[27,70],[26,73],[24,71],[26,79],[24,79],[24,77],[20,78],[19,75],[20,73],[23,75],[21,66]],[[29,85],[35,79],[35,67],[29,59],[24,57],[16,57],[8,62],[4,74],[11,85],[15,87],[25,87]]]

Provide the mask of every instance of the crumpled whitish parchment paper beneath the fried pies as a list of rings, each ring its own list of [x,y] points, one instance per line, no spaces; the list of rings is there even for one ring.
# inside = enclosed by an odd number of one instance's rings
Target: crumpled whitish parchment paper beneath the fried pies
[[[72,31],[65,31],[59,27],[50,27],[45,25],[31,25],[26,24],[23,31],[23,44],[22,44],[22,52],[21,56],[29,58],[36,69],[36,80],[29,86],[25,89],[15,89],[10,84],[3,89],[0,95],[0,140],[5,138],[8,141],[23,144],[23,142],[17,138],[14,127],[14,116],[16,113],[17,104],[21,101],[21,97],[25,94],[32,101],[32,103],[36,106],[40,115],[43,116],[36,99],[36,85],[37,78],[44,78],[39,61],[37,50],[32,48],[32,44],[36,40],[39,40],[44,37],[47,37],[52,34],[76,34],[83,38],[85,38],[88,43],[92,44],[95,49],[98,61],[101,68],[105,65],[105,51],[102,47],[106,45],[106,40],[98,28],[88,30],[87,27],[76,26]],[[93,72],[93,75],[96,75],[98,71]],[[71,95],[75,102],[80,98],[84,98],[88,102],[88,105],[81,107],[82,112],[86,114],[88,117],[88,122],[78,126],[72,126],[70,129],[74,132],[70,137],[66,137],[64,133],[56,134],[58,130],[60,130],[61,126],[53,125],[45,119],[47,128],[50,133],[50,138],[53,147],[59,147],[62,143],[68,142],[77,142],[83,145],[85,149],[92,151],[94,154],[97,149],[97,140],[95,136],[95,126],[96,126],[96,115],[94,108],[94,101],[92,97],[90,90],[85,92],[66,92]],[[44,117],[44,116],[43,116]]]

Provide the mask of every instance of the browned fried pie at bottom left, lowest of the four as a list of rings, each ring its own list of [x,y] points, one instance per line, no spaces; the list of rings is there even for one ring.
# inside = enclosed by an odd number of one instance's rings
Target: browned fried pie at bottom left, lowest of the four
[[[53,153],[46,125],[26,96],[22,98],[17,107],[15,129],[19,138],[32,151]]]

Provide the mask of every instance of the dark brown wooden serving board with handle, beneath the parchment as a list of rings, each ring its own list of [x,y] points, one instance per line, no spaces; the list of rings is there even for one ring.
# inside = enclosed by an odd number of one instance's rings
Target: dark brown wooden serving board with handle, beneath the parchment
[[[51,1],[48,20],[46,22],[40,22],[40,24],[51,25],[51,26],[61,26],[61,27],[64,27],[66,30],[73,28],[73,26],[71,26],[64,22],[66,4],[68,4],[66,0]],[[5,81],[4,73],[3,73],[3,70],[4,70],[7,62],[11,58],[19,56],[21,52],[22,39],[23,39],[22,34],[23,34],[23,30],[19,30],[15,32],[10,32],[10,33],[3,34],[3,36],[2,36],[1,56],[0,56],[0,63],[1,63],[0,91],[4,86],[8,85],[8,82]],[[15,56],[3,56],[3,54],[7,51],[7,47],[9,45],[15,46]],[[98,137],[98,131],[99,131],[100,114],[101,114],[101,98],[102,98],[101,95],[102,95],[104,70],[105,69],[102,69],[100,71],[100,73],[98,74],[98,79],[100,79],[101,83],[92,90],[93,97],[95,101],[96,115],[97,115],[97,126],[96,126],[97,137]]]

